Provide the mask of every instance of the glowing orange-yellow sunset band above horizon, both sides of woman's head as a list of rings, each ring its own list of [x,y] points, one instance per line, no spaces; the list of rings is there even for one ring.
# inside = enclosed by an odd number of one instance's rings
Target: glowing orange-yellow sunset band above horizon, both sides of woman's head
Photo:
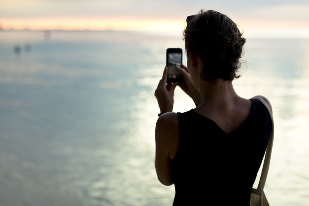
[[[301,37],[309,38],[309,21],[285,21],[265,19],[234,19],[244,36],[249,37]],[[139,17],[44,17],[2,18],[2,29],[15,30],[115,30],[180,33],[183,20],[141,19]]]

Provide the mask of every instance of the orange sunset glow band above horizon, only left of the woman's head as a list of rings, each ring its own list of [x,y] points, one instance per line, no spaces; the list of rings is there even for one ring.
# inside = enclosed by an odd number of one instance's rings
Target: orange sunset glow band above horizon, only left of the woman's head
[[[6,18],[3,29],[31,30],[122,30],[156,31],[182,30],[184,21],[155,20],[128,17],[53,17],[53,18]]]

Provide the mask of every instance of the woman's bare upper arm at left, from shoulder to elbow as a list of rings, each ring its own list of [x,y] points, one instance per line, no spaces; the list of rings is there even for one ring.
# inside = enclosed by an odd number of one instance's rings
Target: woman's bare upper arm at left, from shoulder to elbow
[[[164,185],[173,184],[170,152],[178,148],[179,137],[177,113],[167,112],[159,117],[155,128],[155,168],[159,181]]]

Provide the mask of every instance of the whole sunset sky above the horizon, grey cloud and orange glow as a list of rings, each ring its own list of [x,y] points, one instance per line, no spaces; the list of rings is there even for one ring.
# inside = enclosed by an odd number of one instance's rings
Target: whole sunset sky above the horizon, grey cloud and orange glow
[[[0,28],[178,32],[201,9],[249,36],[309,38],[308,0],[0,0]]]

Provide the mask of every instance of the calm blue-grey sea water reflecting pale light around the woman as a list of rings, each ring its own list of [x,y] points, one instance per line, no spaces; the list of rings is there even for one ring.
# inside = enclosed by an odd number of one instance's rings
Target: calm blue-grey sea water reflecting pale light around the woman
[[[154,167],[169,47],[181,32],[0,32],[0,205],[171,205]],[[271,205],[309,203],[308,56],[309,39],[247,39],[234,81],[273,106]],[[193,107],[176,88],[174,111]]]

